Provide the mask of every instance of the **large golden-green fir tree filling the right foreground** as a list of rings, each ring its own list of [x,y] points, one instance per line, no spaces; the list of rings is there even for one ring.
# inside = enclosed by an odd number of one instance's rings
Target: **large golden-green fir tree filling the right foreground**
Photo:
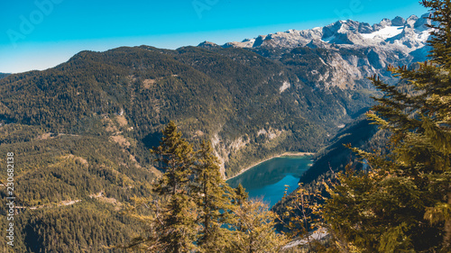
[[[435,28],[431,59],[389,68],[409,92],[371,78],[384,95],[367,116],[391,131],[389,155],[354,149],[370,170],[348,169],[329,190],[324,218],[342,251],[451,250],[451,5],[422,5]]]

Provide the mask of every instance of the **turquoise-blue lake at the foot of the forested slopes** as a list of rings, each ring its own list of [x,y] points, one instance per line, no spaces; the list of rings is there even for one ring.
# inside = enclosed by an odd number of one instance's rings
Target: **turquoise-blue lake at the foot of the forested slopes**
[[[283,197],[284,185],[290,185],[289,193],[296,190],[300,176],[311,163],[310,156],[272,158],[227,180],[227,183],[232,187],[241,183],[250,198],[262,198],[272,207]]]

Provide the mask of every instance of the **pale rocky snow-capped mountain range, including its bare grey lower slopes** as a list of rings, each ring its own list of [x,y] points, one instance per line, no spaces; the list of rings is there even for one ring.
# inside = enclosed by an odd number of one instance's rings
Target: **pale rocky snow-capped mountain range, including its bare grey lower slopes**
[[[374,74],[389,83],[396,82],[386,71],[389,64],[410,65],[427,59],[431,32],[427,17],[428,14],[411,15],[405,20],[397,16],[373,25],[352,20],[337,21],[325,27],[276,32],[222,46],[207,41],[199,46],[247,48],[273,59],[306,57],[306,50],[299,54],[296,49],[308,48],[311,49],[307,50],[310,63],[314,63],[315,68],[302,67],[299,79],[303,82],[326,89],[331,86],[370,87],[365,77]]]

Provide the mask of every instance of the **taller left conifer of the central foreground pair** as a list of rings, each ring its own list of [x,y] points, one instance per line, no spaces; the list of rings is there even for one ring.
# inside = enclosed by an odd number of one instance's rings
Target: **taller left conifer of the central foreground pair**
[[[152,149],[165,173],[155,185],[154,192],[161,198],[161,218],[156,220],[161,252],[189,252],[198,234],[198,211],[190,193],[190,177],[194,164],[194,151],[187,140],[181,138],[174,122],[162,131],[160,146]]]

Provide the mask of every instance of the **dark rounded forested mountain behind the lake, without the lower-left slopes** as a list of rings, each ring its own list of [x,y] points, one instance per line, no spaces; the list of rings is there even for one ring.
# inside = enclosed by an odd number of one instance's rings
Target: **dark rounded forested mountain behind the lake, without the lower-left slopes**
[[[227,176],[253,162],[247,158],[317,150],[371,103],[362,92],[306,86],[283,65],[242,49],[84,51],[57,68],[6,77],[0,89],[0,118],[29,128],[29,140],[115,135],[130,138],[128,149],[141,162],[144,147],[174,119],[190,138],[213,140]],[[110,120],[123,129],[108,127]]]

